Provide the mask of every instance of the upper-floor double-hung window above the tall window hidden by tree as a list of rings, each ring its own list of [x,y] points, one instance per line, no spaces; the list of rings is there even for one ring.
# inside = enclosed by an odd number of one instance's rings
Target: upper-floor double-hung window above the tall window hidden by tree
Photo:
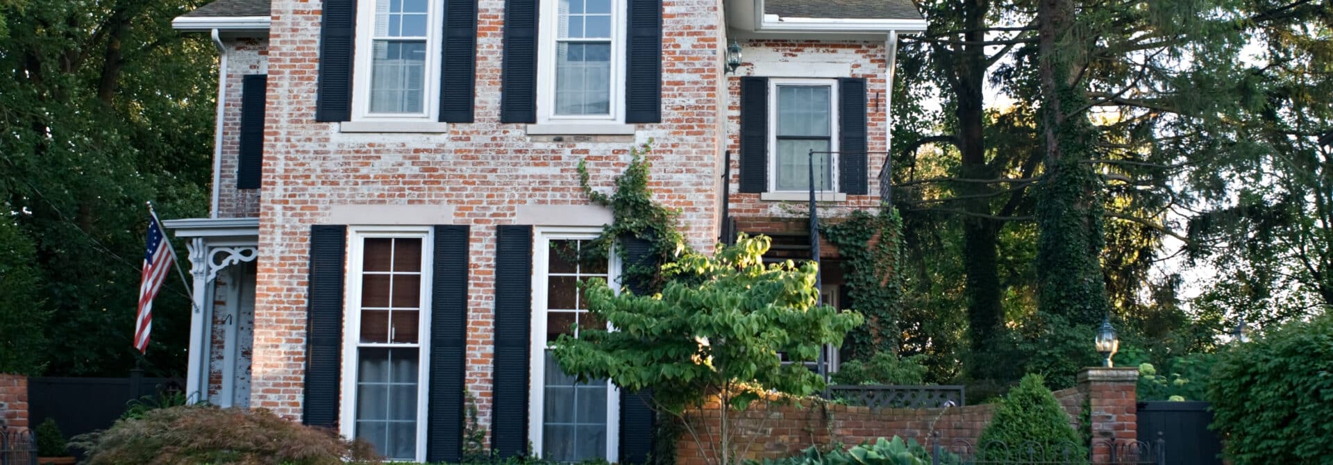
[[[624,120],[625,0],[541,0],[539,123]]]

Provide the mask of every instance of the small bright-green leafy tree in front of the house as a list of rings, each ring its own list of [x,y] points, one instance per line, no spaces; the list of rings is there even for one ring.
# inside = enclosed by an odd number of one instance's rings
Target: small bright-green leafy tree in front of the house
[[[854,312],[817,304],[813,262],[765,266],[761,256],[769,244],[768,237],[741,236],[713,257],[686,253],[663,266],[668,280],[653,296],[617,293],[605,281],[592,281],[589,312],[616,330],[561,336],[556,360],[581,380],[651,388],[653,408],[681,420],[692,409],[716,408],[716,433],[700,434],[688,421],[685,429],[710,453],[710,462],[738,461],[749,445],[741,448],[732,437],[734,416],[760,400],[824,389],[824,380],[801,362],[816,360],[825,344],[841,345],[862,321]],[[792,364],[784,365],[780,353]]]

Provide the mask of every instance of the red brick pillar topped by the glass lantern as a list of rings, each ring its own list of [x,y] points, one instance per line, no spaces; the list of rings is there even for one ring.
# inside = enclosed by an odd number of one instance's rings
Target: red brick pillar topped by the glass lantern
[[[1093,462],[1109,462],[1110,441],[1117,453],[1132,450],[1138,434],[1134,385],[1137,368],[1084,368],[1078,372],[1078,392],[1088,400],[1092,422]]]

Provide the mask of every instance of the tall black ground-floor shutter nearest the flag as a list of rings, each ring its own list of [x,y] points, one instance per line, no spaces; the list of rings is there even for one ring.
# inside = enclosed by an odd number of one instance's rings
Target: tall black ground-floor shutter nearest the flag
[[[305,304],[307,425],[337,426],[343,345],[343,256],[347,227],[311,227],[311,274]]]

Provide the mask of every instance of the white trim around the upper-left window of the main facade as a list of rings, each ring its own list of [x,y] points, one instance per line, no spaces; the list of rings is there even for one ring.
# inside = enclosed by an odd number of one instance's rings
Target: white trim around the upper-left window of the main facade
[[[444,5],[428,1],[425,29],[425,88],[421,113],[371,113],[371,44],[375,43],[375,3],[359,0],[356,5],[356,53],[352,63],[352,120],[353,121],[427,121],[439,123],[440,117],[440,73],[441,36],[444,31]],[[355,127],[353,127],[355,128]],[[349,128],[352,129],[352,128]],[[359,132],[359,131],[345,131]]]

